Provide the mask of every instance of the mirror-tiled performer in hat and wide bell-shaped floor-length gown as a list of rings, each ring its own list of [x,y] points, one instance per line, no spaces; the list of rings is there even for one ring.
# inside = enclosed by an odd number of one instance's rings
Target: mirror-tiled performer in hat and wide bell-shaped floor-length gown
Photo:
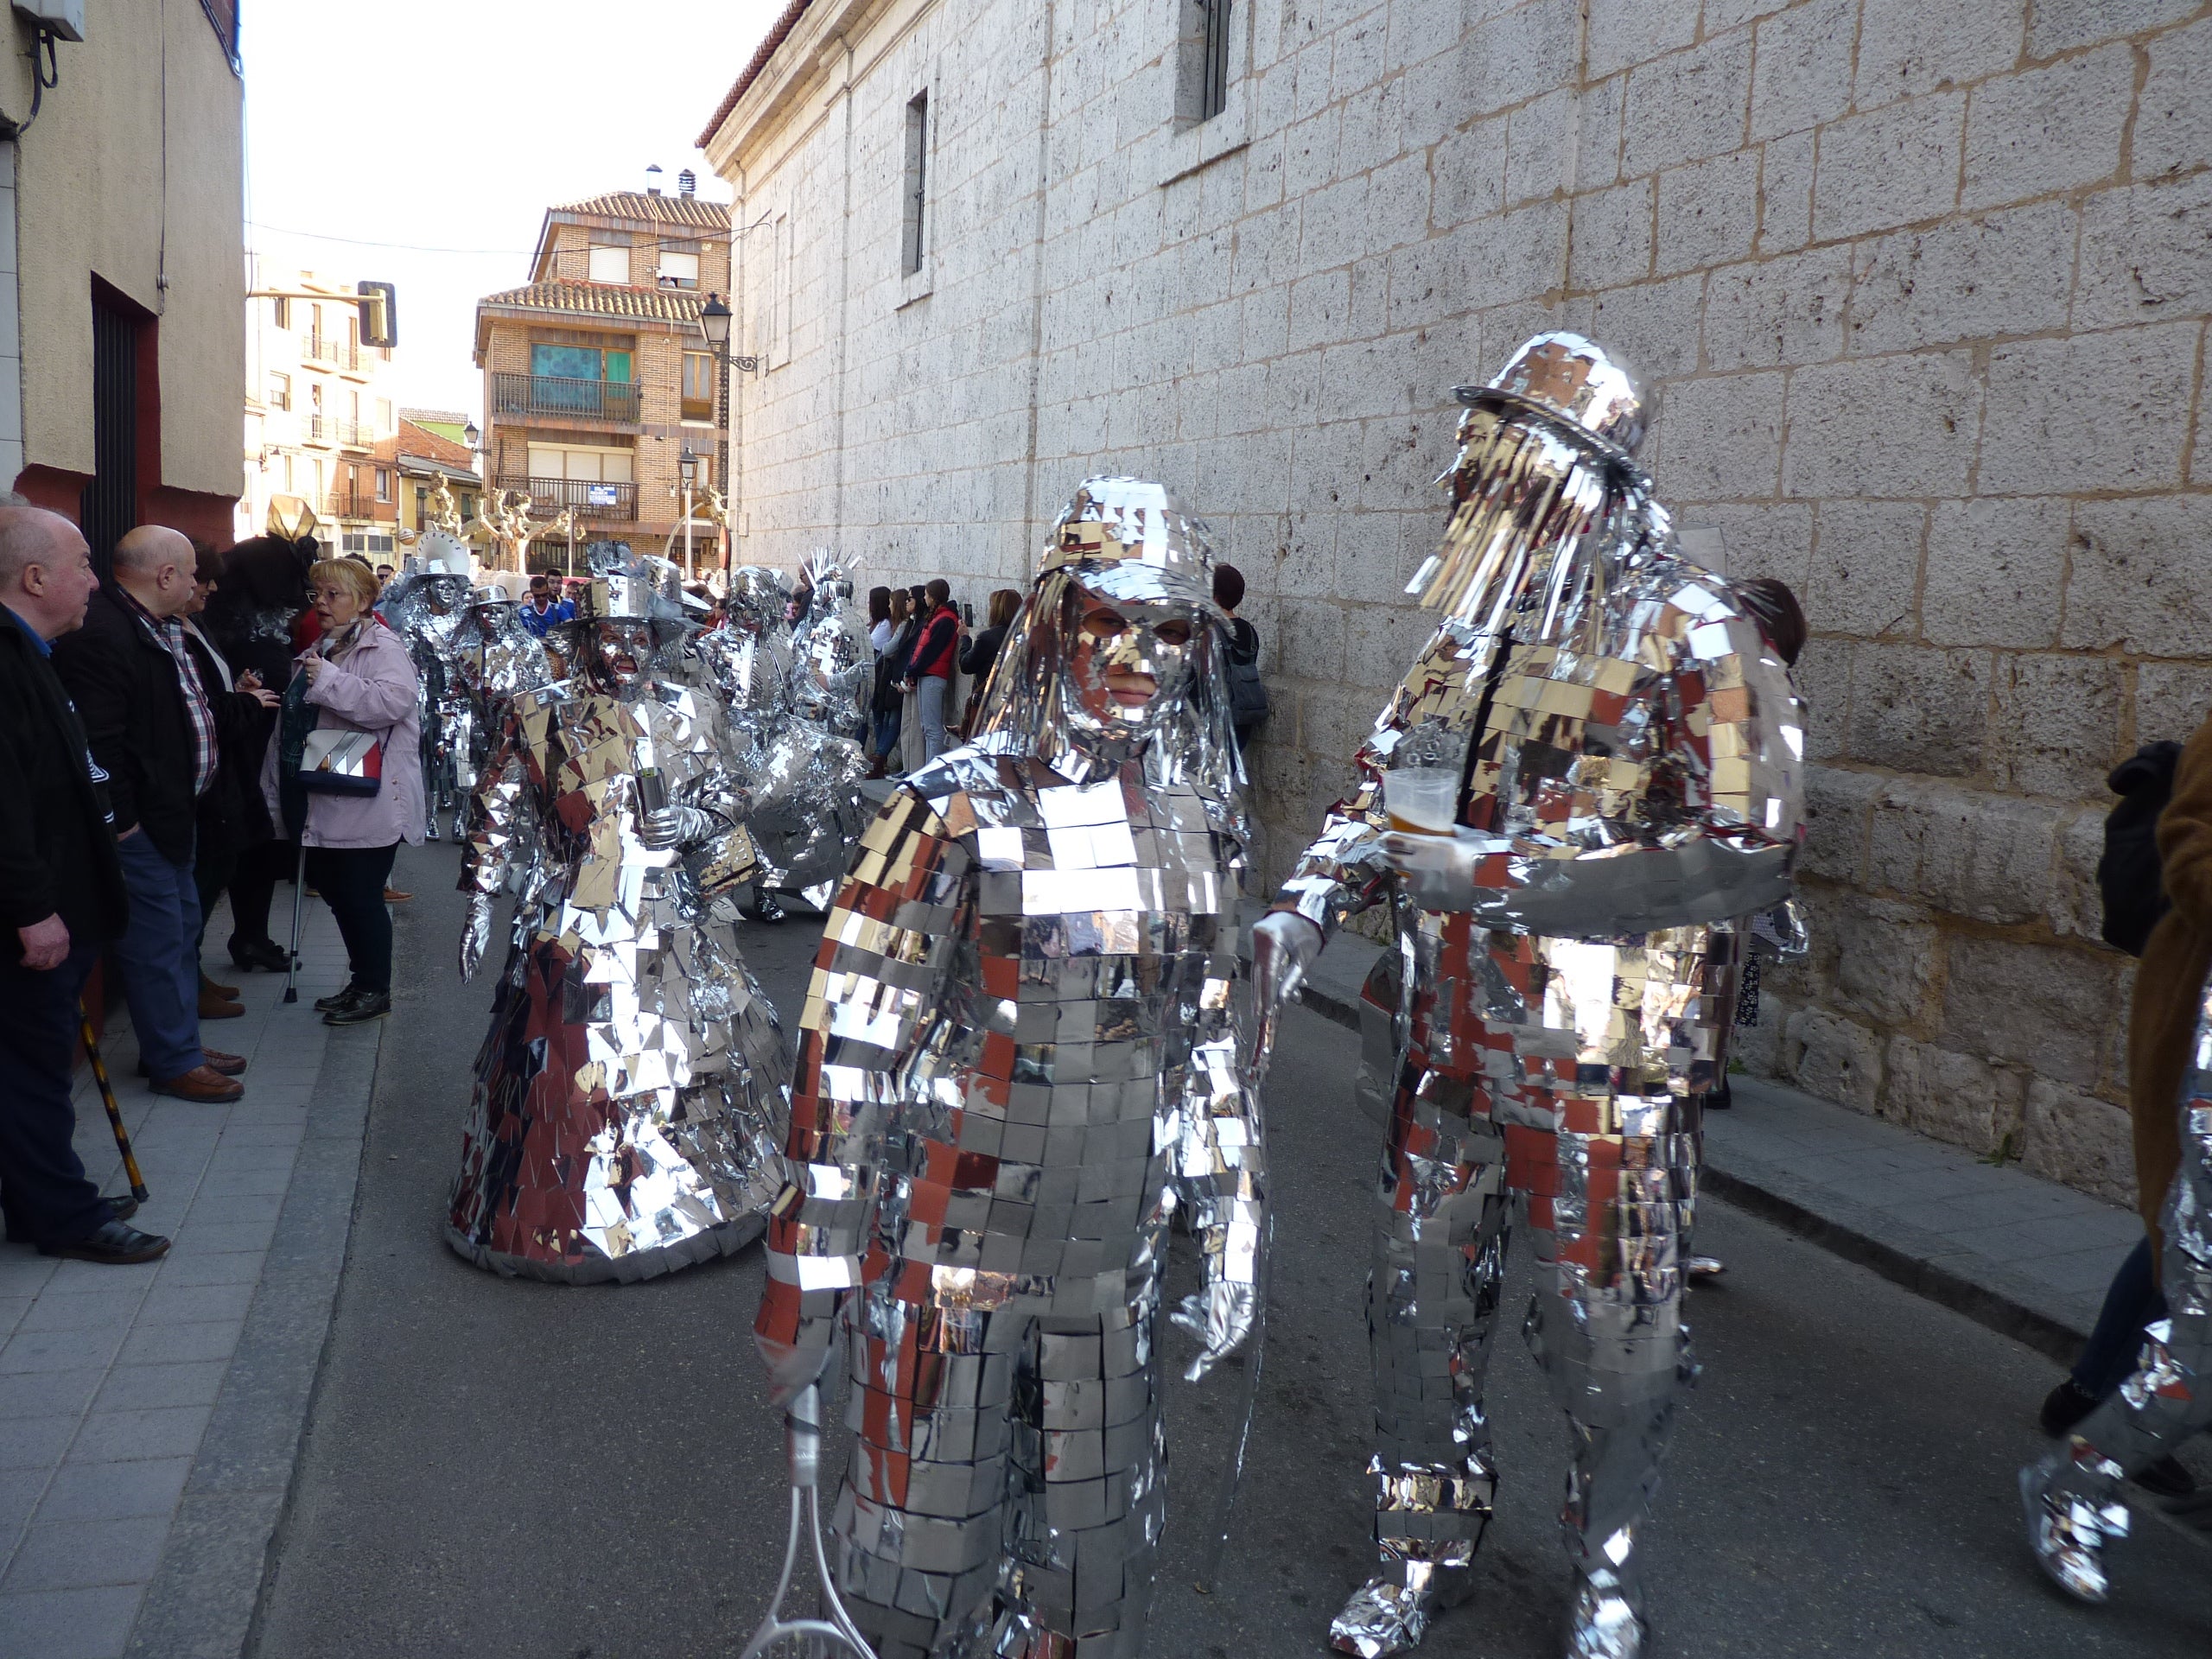
[[[608,568],[522,690],[462,852],[462,978],[526,872],[447,1241],[507,1274],[650,1279],[743,1248],[781,1181],[790,1048],[737,947],[752,880],[719,701],[675,677],[677,566]]]

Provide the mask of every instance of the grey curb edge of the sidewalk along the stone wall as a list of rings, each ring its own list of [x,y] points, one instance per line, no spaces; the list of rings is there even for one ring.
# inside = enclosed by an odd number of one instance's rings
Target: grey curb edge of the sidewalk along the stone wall
[[[1243,956],[1250,960],[1250,953],[1248,938]],[[1338,933],[1332,938],[1327,951],[1314,962],[1314,971],[1298,987],[1301,1006],[1332,1024],[1358,1031],[1358,987],[1378,953],[1378,945],[1358,936]],[[1356,969],[1352,967],[1354,958],[1358,960]],[[1759,1079],[1739,1079],[1739,1088],[1745,1084],[1759,1086]],[[1701,1186],[1712,1197],[1880,1274],[1924,1301],[1949,1307],[1997,1336],[2033,1347],[2059,1365],[2073,1365],[2088,1340],[2088,1323],[2073,1310],[2053,1307],[2051,1298],[2033,1283],[1991,1270],[1960,1272],[1947,1265],[1944,1259],[1955,1259],[1958,1252],[1942,1239],[1887,1217],[1876,1221],[1871,1212],[1814,1192],[1809,1183],[1794,1179],[1787,1170],[1770,1168],[1759,1159],[1730,1157],[1710,1139]]]

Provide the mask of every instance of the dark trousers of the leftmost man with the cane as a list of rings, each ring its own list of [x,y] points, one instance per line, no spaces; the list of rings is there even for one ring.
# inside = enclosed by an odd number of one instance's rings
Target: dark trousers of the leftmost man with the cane
[[[58,969],[0,967],[0,1210],[7,1237],[29,1243],[86,1239],[108,1219],[84,1179],[69,1104],[77,1060],[77,993],[100,960],[77,945]]]

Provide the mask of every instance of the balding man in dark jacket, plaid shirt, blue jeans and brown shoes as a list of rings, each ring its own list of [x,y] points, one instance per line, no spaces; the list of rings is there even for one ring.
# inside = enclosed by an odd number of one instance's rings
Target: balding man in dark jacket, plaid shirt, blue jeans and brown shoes
[[[53,670],[108,772],[115,849],[131,925],[115,945],[131,1026],[157,1095],[230,1102],[246,1093],[237,1055],[199,1042],[199,887],[192,880],[199,796],[217,768],[215,710],[190,666],[177,615],[192,599],[192,544],[142,524],[115,544],[115,580]]]

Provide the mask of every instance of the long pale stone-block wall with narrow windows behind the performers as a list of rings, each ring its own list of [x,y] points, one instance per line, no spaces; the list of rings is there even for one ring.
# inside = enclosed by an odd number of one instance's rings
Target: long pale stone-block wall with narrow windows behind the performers
[[[2106,768],[2212,708],[2199,0],[796,0],[737,192],[743,560],[1018,582],[1088,471],[1248,582],[1265,872],[1429,630],[1451,385],[1579,327],[1814,644],[1743,1060],[2124,1197]]]

